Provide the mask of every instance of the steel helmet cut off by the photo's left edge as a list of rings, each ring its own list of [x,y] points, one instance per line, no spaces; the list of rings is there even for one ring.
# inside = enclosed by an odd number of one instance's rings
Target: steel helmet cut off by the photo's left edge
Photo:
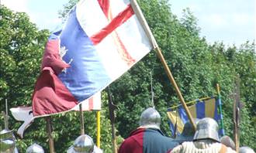
[[[1,149],[0,152],[5,152],[5,153],[12,153],[15,152],[15,137],[12,133],[13,131],[9,130],[2,130],[0,132],[0,145]]]

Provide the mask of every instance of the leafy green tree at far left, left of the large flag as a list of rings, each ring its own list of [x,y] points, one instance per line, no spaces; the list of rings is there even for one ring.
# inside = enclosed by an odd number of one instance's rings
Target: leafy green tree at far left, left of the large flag
[[[3,5],[1,5],[0,16],[2,17],[0,22],[1,110],[5,110],[5,99],[8,100],[9,108],[31,105],[33,86],[40,72],[40,61],[49,32],[36,29],[36,25],[29,22],[29,16],[25,13],[14,13]],[[1,116],[3,129],[2,121]],[[39,122],[35,125],[42,127],[43,124]],[[17,129],[19,123],[11,117],[9,126],[11,129]],[[29,134],[29,139],[24,141],[18,139],[18,148],[22,152],[26,145],[29,145],[27,142],[33,140],[31,138],[34,136],[43,138],[43,135],[44,137],[46,135],[42,131],[37,131],[37,128],[33,131],[35,132]]]

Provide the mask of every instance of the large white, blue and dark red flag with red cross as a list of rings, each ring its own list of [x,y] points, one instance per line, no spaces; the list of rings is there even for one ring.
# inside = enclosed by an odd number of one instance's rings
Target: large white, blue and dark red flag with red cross
[[[129,70],[150,49],[130,1],[78,2],[64,26],[47,41],[33,93],[33,116],[72,110]]]

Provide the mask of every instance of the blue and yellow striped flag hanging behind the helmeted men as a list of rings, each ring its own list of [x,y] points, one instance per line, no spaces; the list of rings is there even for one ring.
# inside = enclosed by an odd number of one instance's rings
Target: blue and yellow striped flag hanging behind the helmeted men
[[[211,117],[220,124],[221,114],[218,111],[220,101],[217,97],[212,97],[206,100],[196,100],[196,103],[189,106],[189,111],[193,118]],[[169,125],[172,135],[180,135],[183,131],[184,125],[189,121],[189,117],[185,113],[182,105],[174,109],[168,108]],[[223,128],[220,127],[219,134],[223,135]]]

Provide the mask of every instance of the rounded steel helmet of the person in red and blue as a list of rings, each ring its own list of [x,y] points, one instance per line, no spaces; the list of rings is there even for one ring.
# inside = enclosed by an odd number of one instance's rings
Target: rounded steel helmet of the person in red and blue
[[[153,107],[149,107],[140,115],[140,126],[160,129],[161,116]]]

